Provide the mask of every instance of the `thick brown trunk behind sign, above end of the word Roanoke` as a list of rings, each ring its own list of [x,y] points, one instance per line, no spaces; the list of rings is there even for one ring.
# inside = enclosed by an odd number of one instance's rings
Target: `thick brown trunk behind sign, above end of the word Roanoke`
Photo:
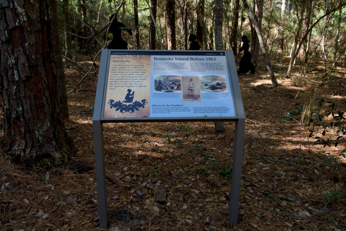
[[[175,38],[175,0],[167,0],[167,48],[168,50],[176,50]]]

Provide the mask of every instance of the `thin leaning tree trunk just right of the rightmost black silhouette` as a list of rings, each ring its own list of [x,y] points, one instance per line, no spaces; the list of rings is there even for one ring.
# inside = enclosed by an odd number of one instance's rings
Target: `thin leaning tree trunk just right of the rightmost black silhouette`
[[[247,15],[249,16],[249,19],[251,20],[251,23],[252,23],[252,25],[254,26],[254,28],[255,28],[255,30],[257,32],[258,41],[260,42],[260,45],[261,45],[262,53],[263,53],[263,56],[264,56],[264,61],[265,61],[266,65],[267,65],[267,69],[268,69],[269,76],[270,76],[270,79],[271,79],[272,84],[273,84],[273,88],[276,88],[279,85],[278,85],[277,80],[275,78],[275,74],[274,74],[273,67],[272,67],[272,64],[270,62],[268,53],[267,53],[267,49],[266,49],[266,47],[264,45],[264,41],[263,41],[263,37],[262,37],[262,32],[261,32],[260,26],[258,25],[258,23],[256,21],[254,13],[249,8],[249,6],[247,4],[247,1],[246,0],[242,0],[242,2],[243,2],[243,5],[244,5],[244,8],[246,9]]]

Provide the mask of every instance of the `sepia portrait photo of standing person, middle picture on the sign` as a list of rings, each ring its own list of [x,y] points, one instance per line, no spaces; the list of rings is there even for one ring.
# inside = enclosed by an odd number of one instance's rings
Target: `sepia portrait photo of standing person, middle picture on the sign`
[[[181,82],[183,102],[202,101],[198,76],[182,76]]]

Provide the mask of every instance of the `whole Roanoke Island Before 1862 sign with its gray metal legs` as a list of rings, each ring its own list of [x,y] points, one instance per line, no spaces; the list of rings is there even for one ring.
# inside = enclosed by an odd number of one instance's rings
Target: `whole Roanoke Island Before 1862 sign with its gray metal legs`
[[[100,227],[107,228],[102,123],[235,121],[229,218],[236,224],[245,115],[232,51],[103,50],[93,130]]]

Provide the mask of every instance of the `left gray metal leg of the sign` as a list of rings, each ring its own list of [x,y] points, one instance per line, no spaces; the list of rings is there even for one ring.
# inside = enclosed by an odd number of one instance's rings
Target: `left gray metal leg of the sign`
[[[108,226],[108,206],[106,192],[106,175],[104,172],[103,126],[100,121],[93,121],[92,127],[94,132],[97,201],[99,204],[100,228],[106,229]]]

